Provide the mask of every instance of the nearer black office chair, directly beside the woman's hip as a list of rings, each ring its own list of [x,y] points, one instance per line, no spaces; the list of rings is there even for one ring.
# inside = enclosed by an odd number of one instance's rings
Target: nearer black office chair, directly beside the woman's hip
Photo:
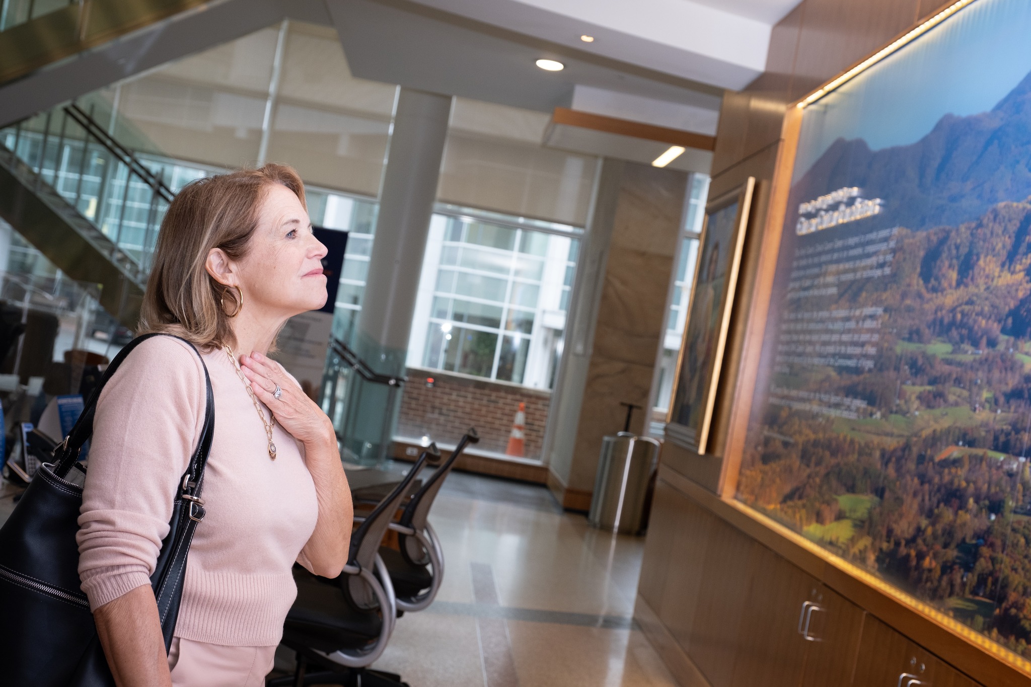
[[[400,676],[368,669],[387,648],[397,619],[394,588],[378,548],[430,456],[440,458],[434,444],[352,534],[347,564],[338,577],[330,580],[294,566],[297,600],[287,614],[282,644],[297,654],[297,669],[292,677],[268,681],[269,687],[404,685]],[[306,675],[309,662],[323,669]]]

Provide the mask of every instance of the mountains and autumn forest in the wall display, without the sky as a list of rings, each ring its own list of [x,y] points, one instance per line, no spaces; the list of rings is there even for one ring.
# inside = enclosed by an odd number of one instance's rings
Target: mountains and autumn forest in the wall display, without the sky
[[[880,211],[811,234],[800,203]],[[1031,658],[1031,74],[792,188],[738,497]]]

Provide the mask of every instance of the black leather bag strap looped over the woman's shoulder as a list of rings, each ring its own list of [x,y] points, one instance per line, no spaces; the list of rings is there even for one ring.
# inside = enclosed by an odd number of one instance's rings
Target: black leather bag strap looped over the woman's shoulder
[[[87,442],[90,437],[93,436],[93,417],[97,410],[97,400],[100,398],[100,392],[104,389],[107,381],[114,375],[119,367],[122,365],[129,353],[133,351],[139,344],[143,343],[147,339],[154,337],[172,337],[173,339],[178,339],[185,342],[197,353],[197,357],[200,359],[201,369],[204,371],[204,385],[206,387],[206,400],[204,408],[204,424],[201,428],[200,440],[197,442],[197,448],[193,455],[190,457],[190,465],[187,468],[186,473],[180,479],[181,493],[193,497],[198,497],[200,495],[201,483],[204,479],[204,468],[207,466],[207,455],[211,449],[211,440],[214,437],[214,398],[211,392],[211,378],[207,373],[207,366],[204,365],[204,358],[201,356],[200,351],[192,343],[187,341],[181,337],[177,337],[173,334],[144,334],[143,336],[136,337],[129,342],[119,354],[114,356],[110,365],[104,371],[104,375],[97,384],[96,388],[93,389],[93,393],[90,394],[90,400],[86,403],[82,412],[78,416],[75,425],[68,433],[65,440],[54,449],[55,456],[55,469],[54,473],[61,478],[64,478],[68,471],[72,469],[75,465],[75,460],[78,458],[79,451],[82,449],[82,445]]]

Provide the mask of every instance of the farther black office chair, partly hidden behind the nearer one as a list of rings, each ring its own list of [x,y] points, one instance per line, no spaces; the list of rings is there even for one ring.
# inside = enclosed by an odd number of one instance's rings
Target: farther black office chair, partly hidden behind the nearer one
[[[394,586],[398,615],[405,611],[422,611],[433,603],[440,589],[444,578],[444,554],[427,518],[455,461],[467,445],[478,441],[475,427],[469,427],[447,460],[408,501],[400,521],[390,523],[390,528],[398,534],[400,551],[381,546],[379,557],[387,565]]]

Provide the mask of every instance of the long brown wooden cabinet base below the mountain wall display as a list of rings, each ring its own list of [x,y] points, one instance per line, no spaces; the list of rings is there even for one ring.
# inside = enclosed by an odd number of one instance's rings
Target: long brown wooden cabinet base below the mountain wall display
[[[674,485],[654,504],[639,592],[710,687],[978,687]]]

